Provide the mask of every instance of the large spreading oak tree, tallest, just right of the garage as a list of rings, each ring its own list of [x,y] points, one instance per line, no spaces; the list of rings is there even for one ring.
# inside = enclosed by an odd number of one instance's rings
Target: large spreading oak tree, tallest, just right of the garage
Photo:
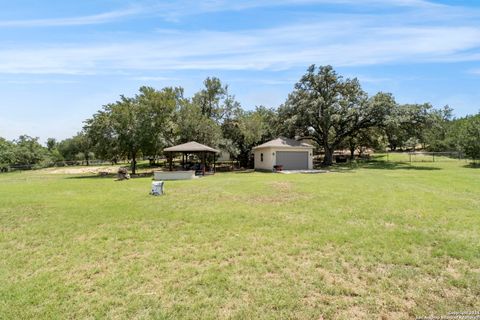
[[[357,79],[343,79],[331,66],[310,66],[279,109],[290,136],[309,136],[325,152],[331,165],[333,152],[355,132],[382,123],[386,107],[369,101]]]

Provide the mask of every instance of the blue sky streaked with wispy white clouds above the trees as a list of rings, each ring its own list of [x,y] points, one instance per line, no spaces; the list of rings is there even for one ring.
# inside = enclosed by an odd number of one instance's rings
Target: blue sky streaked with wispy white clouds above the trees
[[[480,1],[0,0],[0,136],[63,139],[120,94],[217,76],[277,107],[310,64],[400,103],[480,111]]]

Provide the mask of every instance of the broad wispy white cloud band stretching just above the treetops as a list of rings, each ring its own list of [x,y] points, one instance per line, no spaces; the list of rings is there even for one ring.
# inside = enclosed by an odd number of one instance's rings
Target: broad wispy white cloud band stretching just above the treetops
[[[284,70],[479,59],[474,26],[376,26],[335,19],[236,32],[168,31],[148,40],[0,51],[0,73],[111,74],[135,70]],[[470,52],[468,50],[473,50]]]

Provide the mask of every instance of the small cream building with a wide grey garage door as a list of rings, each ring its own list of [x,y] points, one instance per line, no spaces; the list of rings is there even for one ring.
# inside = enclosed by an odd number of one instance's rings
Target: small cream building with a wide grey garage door
[[[313,146],[308,143],[280,137],[253,148],[255,170],[312,170]]]

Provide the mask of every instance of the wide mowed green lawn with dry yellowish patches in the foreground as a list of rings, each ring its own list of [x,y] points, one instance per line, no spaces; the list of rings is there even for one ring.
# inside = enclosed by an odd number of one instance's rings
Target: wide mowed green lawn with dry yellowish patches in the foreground
[[[480,310],[480,169],[0,175],[1,319],[411,319]]]

